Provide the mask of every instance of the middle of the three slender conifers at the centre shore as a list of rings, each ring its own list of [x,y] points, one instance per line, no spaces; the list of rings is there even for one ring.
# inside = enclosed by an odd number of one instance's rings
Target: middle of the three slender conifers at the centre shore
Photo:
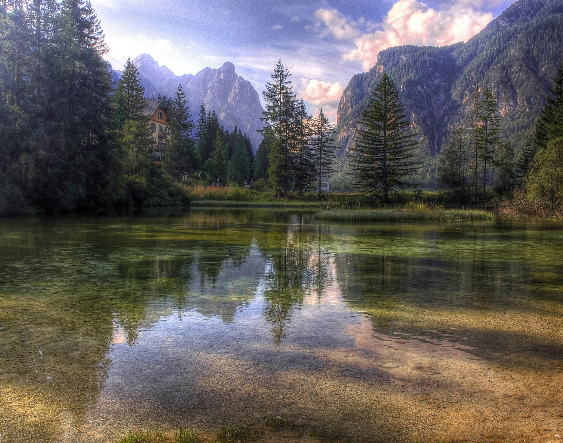
[[[293,182],[299,191],[299,198],[302,200],[303,190],[316,178],[314,151],[310,146],[311,116],[307,114],[303,99],[296,104],[291,134],[292,138],[289,140],[289,149],[294,156]]]

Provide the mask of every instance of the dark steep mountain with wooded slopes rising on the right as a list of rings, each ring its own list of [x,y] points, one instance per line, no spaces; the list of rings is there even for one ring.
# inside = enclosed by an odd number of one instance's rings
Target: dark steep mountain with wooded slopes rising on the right
[[[519,0],[466,43],[381,51],[377,64],[354,75],[342,94],[341,153],[353,143],[356,120],[383,73],[400,88],[421,155],[438,154],[450,131],[470,122],[476,78],[497,94],[503,136],[519,152],[563,63],[562,47],[563,0]]]

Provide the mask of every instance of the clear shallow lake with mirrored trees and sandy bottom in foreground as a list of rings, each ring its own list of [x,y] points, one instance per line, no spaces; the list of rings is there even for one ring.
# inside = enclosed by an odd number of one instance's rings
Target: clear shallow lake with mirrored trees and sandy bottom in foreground
[[[0,220],[0,443],[269,415],[350,441],[553,440],[562,247],[548,222]]]

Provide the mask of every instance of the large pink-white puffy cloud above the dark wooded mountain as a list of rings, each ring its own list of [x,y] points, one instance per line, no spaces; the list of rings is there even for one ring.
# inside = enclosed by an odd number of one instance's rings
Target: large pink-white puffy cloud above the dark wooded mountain
[[[418,0],[399,0],[383,19],[383,30],[355,38],[356,48],[347,53],[348,61],[360,60],[368,70],[379,51],[401,44],[444,46],[466,41],[493,19],[490,12],[475,11],[464,0],[443,11],[436,11]]]

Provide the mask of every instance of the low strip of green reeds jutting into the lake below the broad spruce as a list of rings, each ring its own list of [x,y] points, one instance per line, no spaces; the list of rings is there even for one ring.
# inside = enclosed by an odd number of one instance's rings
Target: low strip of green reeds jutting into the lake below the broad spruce
[[[341,222],[378,221],[471,221],[494,220],[495,214],[482,209],[417,208],[409,205],[382,209],[332,209],[318,212],[316,220]]]

